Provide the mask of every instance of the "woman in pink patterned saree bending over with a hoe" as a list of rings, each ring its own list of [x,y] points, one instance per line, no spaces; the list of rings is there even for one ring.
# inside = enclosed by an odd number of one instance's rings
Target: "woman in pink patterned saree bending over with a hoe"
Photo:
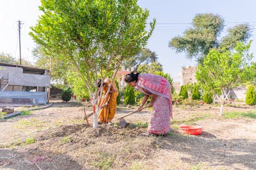
[[[138,108],[141,111],[149,96],[151,101],[147,105],[153,107],[153,115],[147,128],[148,134],[166,134],[170,131],[170,117],[172,117],[172,90],[170,83],[159,75],[127,74],[125,82],[132,87],[137,86],[144,94],[143,101]]]

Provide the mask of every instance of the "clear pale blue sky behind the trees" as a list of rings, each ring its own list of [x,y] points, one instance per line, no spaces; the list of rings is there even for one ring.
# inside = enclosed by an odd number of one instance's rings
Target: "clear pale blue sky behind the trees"
[[[214,13],[225,20],[226,30],[239,23],[248,22],[254,29],[251,52],[256,55],[256,1],[255,0],[139,0],[138,4],[143,9],[150,11],[148,21],[157,19],[157,25],[147,48],[156,52],[159,62],[163,65],[164,72],[176,77],[181,72],[182,66],[195,66],[194,60],[186,59],[186,54],[176,54],[175,50],[168,47],[168,42],[175,36],[190,27],[192,19],[197,13]],[[28,35],[31,26],[34,26],[40,6],[39,0],[0,0],[0,53],[10,54],[19,59],[18,25],[22,21],[21,46],[22,58],[33,61],[32,50],[35,46]],[[256,61],[256,57],[254,57]]]

